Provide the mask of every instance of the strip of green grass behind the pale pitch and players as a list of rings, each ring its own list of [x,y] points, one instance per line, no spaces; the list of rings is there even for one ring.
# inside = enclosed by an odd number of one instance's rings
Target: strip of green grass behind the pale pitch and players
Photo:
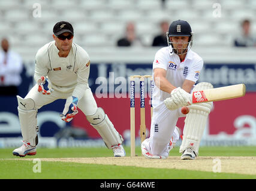
[[[0,159],[17,158],[12,155],[13,149],[0,149]],[[127,156],[130,156],[130,148],[125,147]],[[140,147],[136,147],[136,155],[140,156]],[[176,147],[170,152],[170,156],[180,156],[179,148]],[[256,147],[200,147],[200,156],[256,156]],[[29,158],[83,158],[83,157],[111,157],[113,152],[106,147],[100,148],[38,148],[37,155]]]

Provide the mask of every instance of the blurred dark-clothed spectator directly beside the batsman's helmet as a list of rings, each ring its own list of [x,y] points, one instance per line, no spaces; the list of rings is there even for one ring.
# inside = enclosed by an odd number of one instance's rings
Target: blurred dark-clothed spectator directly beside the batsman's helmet
[[[167,37],[166,37],[166,32],[169,29],[169,24],[167,21],[162,21],[160,23],[160,27],[161,27],[161,34],[158,36],[155,36],[155,38],[153,39],[153,47],[167,47]]]

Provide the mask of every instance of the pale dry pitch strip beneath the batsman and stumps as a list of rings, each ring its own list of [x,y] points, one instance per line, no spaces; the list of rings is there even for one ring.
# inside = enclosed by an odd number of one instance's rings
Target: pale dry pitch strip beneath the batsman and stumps
[[[32,160],[32,159],[29,159]],[[180,156],[169,156],[167,159],[146,159],[143,156],[124,158],[41,158],[41,161],[79,162],[86,164],[103,164],[133,166],[144,168],[171,168],[197,171],[217,171],[237,174],[256,175],[256,157],[198,157],[195,160],[181,160]]]

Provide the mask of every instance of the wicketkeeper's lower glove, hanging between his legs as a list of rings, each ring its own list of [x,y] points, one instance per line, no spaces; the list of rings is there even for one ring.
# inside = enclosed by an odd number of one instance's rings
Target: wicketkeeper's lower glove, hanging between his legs
[[[74,116],[78,113],[77,110],[78,98],[71,96],[67,98],[65,107],[62,113],[59,113],[61,119],[65,122],[70,122]]]

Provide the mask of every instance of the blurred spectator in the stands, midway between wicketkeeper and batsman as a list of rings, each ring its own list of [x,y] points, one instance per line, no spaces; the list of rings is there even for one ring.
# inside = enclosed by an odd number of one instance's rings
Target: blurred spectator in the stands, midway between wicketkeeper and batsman
[[[134,23],[129,22],[126,27],[125,37],[121,38],[117,42],[118,47],[131,47],[131,46],[141,46],[141,39],[138,38],[135,32]]]

